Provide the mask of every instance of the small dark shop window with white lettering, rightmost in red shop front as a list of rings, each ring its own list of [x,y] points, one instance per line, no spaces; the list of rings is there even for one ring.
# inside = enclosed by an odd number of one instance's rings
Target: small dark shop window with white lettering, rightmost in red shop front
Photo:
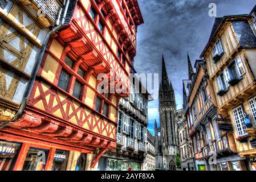
[[[52,162],[52,171],[65,171],[67,168],[69,151],[57,149]]]

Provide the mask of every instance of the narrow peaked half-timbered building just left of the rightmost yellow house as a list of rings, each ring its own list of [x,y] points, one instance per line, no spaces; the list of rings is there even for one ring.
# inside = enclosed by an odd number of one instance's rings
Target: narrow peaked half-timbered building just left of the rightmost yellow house
[[[236,154],[233,134],[227,115],[218,110],[216,94],[209,80],[204,60],[196,60],[189,95],[189,135],[193,139],[197,171],[234,170],[243,167],[243,158]],[[227,167],[227,163],[233,168]]]

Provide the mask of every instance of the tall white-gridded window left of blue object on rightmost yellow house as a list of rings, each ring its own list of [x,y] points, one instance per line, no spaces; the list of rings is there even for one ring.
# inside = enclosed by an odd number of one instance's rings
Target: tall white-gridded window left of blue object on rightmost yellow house
[[[233,110],[235,119],[235,125],[237,126],[238,135],[244,135],[246,133],[246,127],[244,123],[244,113],[242,106],[238,106]]]

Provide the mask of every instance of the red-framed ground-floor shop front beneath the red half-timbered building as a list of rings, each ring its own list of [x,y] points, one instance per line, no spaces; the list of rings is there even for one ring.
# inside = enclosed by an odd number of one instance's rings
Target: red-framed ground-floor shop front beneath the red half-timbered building
[[[0,140],[0,171],[84,171],[88,151],[41,142]],[[91,154],[90,154],[91,155]]]

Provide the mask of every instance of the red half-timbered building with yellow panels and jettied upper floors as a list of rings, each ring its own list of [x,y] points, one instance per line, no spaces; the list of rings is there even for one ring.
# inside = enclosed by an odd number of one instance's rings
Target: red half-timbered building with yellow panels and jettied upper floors
[[[119,99],[128,96],[141,23],[137,0],[70,1],[23,115],[0,131],[7,145],[15,143],[13,170],[96,169],[100,156],[116,148]],[[116,77],[103,93],[101,73]],[[109,93],[111,86],[126,92]]]

